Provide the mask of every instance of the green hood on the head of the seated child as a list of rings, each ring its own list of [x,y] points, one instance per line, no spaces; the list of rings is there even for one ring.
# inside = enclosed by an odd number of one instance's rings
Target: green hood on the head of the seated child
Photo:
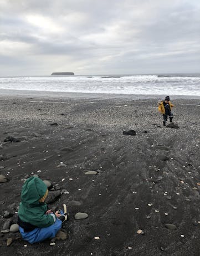
[[[47,191],[47,185],[37,177],[30,177],[25,181],[22,187],[21,201],[26,207],[38,206],[39,199],[42,198]]]

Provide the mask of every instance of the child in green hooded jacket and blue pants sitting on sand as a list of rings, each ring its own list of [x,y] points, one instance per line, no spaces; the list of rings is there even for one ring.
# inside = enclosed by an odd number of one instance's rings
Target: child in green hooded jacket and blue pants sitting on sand
[[[19,232],[30,244],[55,237],[62,222],[67,219],[65,204],[65,213],[48,210],[44,202],[47,195],[47,186],[37,177],[28,178],[22,187],[22,202],[18,211]]]

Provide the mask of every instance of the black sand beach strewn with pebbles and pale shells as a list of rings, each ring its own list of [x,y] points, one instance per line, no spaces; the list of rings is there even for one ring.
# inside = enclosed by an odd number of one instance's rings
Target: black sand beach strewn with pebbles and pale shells
[[[68,238],[55,245],[1,233],[1,255],[200,255],[200,99],[171,97],[180,126],[172,129],[157,111],[162,97],[145,98],[1,97],[0,174],[9,179],[0,183],[1,229],[5,211],[17,222],[20,190],[34,174],[60,195],[50,207],[66,203],[70,216]],[[75,220],[77,212],[89,217]]]

